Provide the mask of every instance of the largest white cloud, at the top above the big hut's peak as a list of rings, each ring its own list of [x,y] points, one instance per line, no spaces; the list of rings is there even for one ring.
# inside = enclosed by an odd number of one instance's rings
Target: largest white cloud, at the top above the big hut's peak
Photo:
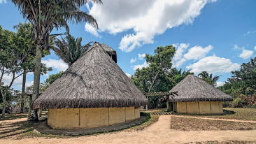
[[[166,29],[178,27],[180,24],[192,24],[206,3],[215,1],[108,0],[104,4],[93,4],[89,11],[97,20],[100,32],[117,34],[125,31],[119,48],[131,52],[141,45],[154,43],[154,37],[163,34]],[[99,35],[94,30],[88,31],[95,36]]]

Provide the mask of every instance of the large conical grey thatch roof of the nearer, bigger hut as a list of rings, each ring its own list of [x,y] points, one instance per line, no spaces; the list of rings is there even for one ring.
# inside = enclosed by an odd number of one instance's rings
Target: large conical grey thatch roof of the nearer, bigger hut
[[[55,80],[32,108],[145,106],[148,100],[99,43]]]

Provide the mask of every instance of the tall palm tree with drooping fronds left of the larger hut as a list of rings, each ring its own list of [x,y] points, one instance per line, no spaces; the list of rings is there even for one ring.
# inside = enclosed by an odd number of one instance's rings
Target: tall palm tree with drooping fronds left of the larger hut
[[[32,24],[32,40],[36,45],[36,59],[34,71],[34,88],[32,102],[39,96],[41,58],[42,52],[47,47],[50,36],[61,34],[50,34],[54,28],[65,27],[69,33],[68,22],[76,24],[89,22],[98,29],[98,24],[92,15],[81,11],[80,6],[89,0],[11,0],[22,13],[22,16]],[[102,3],[101,0],[91,0],[94,3]],[[38,121],[37,110],[33,110],[30,121]]]

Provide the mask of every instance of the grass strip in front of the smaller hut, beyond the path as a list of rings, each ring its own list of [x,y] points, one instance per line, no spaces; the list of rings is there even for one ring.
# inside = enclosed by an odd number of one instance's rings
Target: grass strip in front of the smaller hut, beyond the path
[[[191,114],[176,114],[176,115],[256,121],[256,108],[223,108],[223,110],[224,110],[224,114],[221,114],[221,115],[191,115]]]

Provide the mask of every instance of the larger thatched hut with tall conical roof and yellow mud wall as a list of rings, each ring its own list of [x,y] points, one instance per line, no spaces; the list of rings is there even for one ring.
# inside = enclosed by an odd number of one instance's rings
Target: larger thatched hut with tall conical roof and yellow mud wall
[[[103,47],[94,43],[34,101],[32,108],[48,108],[50,127],[86,129],[140,117],[148,100],[115,63],[115,50]]]

